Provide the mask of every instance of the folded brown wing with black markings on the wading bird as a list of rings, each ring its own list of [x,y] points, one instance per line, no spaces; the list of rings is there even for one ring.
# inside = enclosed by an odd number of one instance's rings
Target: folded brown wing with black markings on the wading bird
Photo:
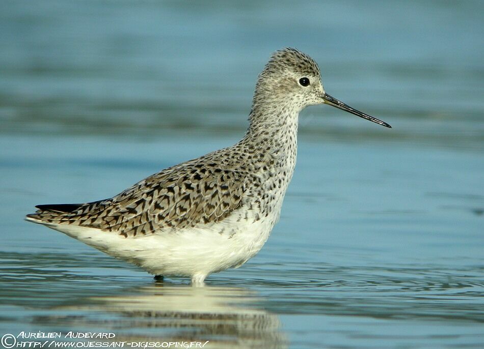
[[[44,221],[75,224],[139,237],[219,222],[242,206],[246,175],[214,163],[163,170],[113,198],[60,213],[40,210]],[[30,215],[30,216],[34,216]]]

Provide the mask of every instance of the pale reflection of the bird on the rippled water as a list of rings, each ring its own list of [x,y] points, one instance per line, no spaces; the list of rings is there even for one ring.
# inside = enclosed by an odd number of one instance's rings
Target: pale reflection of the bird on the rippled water
[[[62,307],[87,316],[69,319],[69,326],[105,326],[105,318],[115,316],[116,341],[201,341],[212,348],[285,348],[276,314],[254,308],[260,299],[243,288],[190,287],[157,283],[127,289],[125,296],[93,297],[89,305]],[[101,323],[94,313],[103,314]],[[57,319],[59,319],[57,317]],[[111,321],[110,321],[111,322]]]

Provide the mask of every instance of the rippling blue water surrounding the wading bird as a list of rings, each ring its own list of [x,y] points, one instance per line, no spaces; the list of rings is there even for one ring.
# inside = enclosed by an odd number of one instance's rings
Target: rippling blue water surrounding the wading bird
[[[277,8],[277,11],[275,11]],[[0,4],[0,334],[208,348],[484,346],[484,28],[468,2]],[[318,61],[261,252],[193,289],[24,222],[228,146],[275,49]]]

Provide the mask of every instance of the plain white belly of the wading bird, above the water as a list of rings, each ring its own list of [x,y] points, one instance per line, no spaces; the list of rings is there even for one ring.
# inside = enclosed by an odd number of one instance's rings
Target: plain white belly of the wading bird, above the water
[[[243,265],[264,245],[275,219],[225,219],[203,228],[160,231],[124,238],[111,231],[69,226],[53,227],[109,255],[156,275],[211,274]],[[72,230],[73,229],[73,230]]]

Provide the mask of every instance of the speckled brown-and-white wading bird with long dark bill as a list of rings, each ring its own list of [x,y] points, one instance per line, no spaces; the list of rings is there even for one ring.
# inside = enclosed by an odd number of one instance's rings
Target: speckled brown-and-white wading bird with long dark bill
[[[25,219],[63,232],[162,280],[212,273],[253,257],[279,220],[297,155],[299,113],[329,104],[391,126],[326,93],[317,63],[286,47],[257,77],[249,127],[233,146],[163,169],[86,203],[37,205]]]

